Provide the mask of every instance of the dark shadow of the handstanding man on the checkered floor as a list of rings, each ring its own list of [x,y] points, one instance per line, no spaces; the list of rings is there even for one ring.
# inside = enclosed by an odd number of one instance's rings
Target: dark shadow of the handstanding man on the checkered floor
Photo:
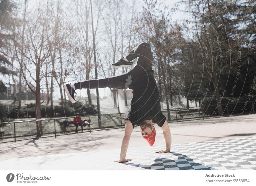
[[[200,163],[196,163],[193,159],[189,158],[186,155],[170,152],[175,156],[179,156],[178,159],[168,159],[168,158],[160,158],[157,157],[154,161],[155,163],[151,165],[142,165],[142,164],[135,164],[135,163],[128,163],[125,162],[123,164],[130,165],[134,167],[141,167],[150,170],[217,170],[212,167],[205,166]],[[196,166],[196,167],[192,167]]]

